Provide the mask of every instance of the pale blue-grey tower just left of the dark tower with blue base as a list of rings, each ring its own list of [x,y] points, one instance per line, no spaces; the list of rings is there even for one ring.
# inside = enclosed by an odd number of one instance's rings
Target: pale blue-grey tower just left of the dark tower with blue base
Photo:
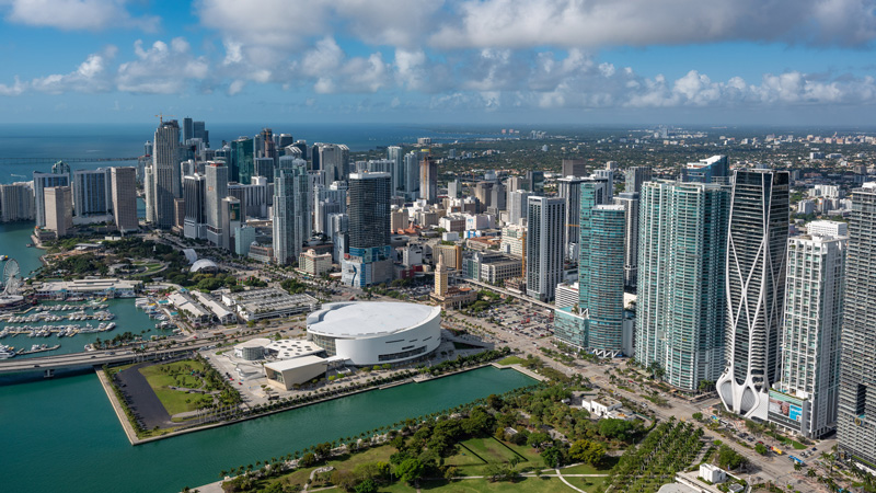
[[[307,161],[280,157],[274,175],[274,256],[278,264],[297,262],[310,238],[310,203]]]

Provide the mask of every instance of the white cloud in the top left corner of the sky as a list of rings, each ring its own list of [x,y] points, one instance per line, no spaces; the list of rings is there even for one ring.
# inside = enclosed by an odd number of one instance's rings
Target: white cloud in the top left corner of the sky
[[[19,24],[65,31],[158,30],[159,18],[132,16],[126,3],[126,0],[0,0],[0,5],[9,8],[7,20]]]

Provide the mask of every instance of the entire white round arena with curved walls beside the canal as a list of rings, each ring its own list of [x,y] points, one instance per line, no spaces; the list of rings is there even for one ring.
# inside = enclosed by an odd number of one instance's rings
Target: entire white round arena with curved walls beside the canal
[[[441,308],[389,301],[326,303],[308,316],[308,340],[357,366],[416,359],[441,343]]]

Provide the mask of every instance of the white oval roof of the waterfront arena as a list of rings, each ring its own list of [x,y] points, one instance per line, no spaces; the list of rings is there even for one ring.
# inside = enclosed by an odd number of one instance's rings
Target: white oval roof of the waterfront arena
[[[441,316],[440,307],[392,301],[324,305],[308,316],[308,332],[370,337],[401,332]]]

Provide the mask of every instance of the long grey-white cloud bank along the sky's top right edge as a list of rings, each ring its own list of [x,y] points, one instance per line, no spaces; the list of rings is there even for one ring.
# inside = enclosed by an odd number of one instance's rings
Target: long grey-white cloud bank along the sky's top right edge
[[[727,41],[867,45],[873,0],[463,0],[443,48],[600,47]]]

